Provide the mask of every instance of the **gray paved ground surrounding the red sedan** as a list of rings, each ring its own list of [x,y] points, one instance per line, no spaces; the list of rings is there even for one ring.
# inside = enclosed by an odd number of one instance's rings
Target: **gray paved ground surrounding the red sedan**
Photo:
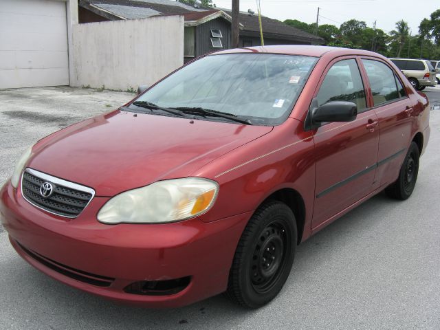
[[[440,89],[428,93],[440,100]],[[0,181],[39,137],[131,96],[0,91]],[[222,296],[170,310],[115,305],[34,270],[1,232],[0,329],[438,330],[440,111],[431,111],[431,126],[412,197],[399,202],[378,195],[301,244],[283,291],[261,309],[248,311]]]

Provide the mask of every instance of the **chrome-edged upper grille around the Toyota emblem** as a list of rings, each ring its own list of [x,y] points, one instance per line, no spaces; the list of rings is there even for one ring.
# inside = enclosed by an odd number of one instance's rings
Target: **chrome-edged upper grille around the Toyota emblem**
[[[53,186],[54,191],[50,197],[43,197],[40,193],[41,185],[45,182],[50,182]],[[69,218],[77,217],[94,197],[94,190],[91,188],[51,177],[30,168],[26,168],[23,172],[21,192],[23,197],[34,206]]]

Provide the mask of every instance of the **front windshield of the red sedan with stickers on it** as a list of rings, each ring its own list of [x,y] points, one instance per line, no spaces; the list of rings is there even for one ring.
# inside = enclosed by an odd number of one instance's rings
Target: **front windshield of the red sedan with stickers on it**
[[[281,124],[316,61],[315,57],[278,54],[206,56],[162,80],[135,103],[203,108],[246,118],[252,124]],[[130,106],[131,111],[135,108]]]

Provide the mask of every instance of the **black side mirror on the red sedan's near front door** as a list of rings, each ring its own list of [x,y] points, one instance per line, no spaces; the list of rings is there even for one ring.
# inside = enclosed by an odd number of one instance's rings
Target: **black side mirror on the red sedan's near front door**
[[[358,107],[353,102],[332,101],[311,109],[312,126],[322,122],[351,122],[358,115]]]

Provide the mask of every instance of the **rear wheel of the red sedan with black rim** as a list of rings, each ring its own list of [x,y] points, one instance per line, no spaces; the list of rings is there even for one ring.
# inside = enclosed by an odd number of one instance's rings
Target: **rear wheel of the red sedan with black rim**
[[[391,186],[385,189],[386,195],[401,201],[410,197],[419,173],[419,157],[419,147],[415,142],[411,142],[404,164],[401,165],[399,177]]]

